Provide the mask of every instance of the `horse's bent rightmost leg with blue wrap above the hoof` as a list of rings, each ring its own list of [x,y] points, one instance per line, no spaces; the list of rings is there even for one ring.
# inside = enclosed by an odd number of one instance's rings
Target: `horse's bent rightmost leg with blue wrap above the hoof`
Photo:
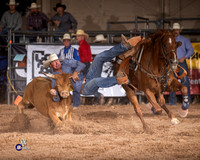
[[[182,93],[182,107],[179,109],[180,117],[186,117],[188,114],[189,100],[188,100],[188,91],[187,87],[181,84],[176,78],[173,78],[170,81],[170,84],[167,88],[167,91],[181,91]]]

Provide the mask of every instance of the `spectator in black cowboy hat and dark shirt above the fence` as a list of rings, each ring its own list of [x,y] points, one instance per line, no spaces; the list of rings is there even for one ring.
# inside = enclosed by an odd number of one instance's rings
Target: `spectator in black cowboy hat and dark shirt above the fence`
[[[57,13],[53,16],[52,21],[58,27],[57,31],[68,32],[77,28],[76,19],[69,12],[64,12],[65,9],[66,5],[61,3],[57,3],[54,8]]]

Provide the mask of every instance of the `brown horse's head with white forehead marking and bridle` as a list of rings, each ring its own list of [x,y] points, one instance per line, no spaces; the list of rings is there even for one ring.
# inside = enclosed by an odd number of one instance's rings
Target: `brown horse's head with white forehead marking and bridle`
[[[159,41],[161,47],[160,57],[164,58],[167,64],[175,70],[178,64],[176,50],[182,43],[176,42],[172,32],[166,30],[158,31],[156,41]]]

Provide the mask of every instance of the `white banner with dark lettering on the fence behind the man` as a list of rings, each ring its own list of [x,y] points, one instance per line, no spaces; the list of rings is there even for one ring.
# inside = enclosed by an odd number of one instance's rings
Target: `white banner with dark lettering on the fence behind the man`
[[[28,45],[27,52],[27,84],[32,81],[34,77],[39,77],[44,75],[42,72],[51,73],[50,68],[44,68],[43,62],[47,60],[48,56],[52,53],[59,53],[59,50],[63,45]],[[73,45],[76,49],[79,48],[78,45]],[[110,49],[112,46],[91,46],[92,55],[95,56],[104,50]],[[110,70],[110,62],[107,62],[103,66],[102,77],[107,77],[108,74],[112,75]],[[100,88],[101,92],[105,97],[122,97],[125,96],[124,89],[115,85],[110,88]]]

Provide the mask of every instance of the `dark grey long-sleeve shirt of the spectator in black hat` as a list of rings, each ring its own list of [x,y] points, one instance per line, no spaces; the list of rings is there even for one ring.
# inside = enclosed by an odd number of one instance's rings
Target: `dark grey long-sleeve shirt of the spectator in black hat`
[[[64,12],[62,16],[55,14],[52,18],[52,21],[60,21],[58,28],[62,31],[68,32],[69,29],[75,30],[77,28],[76,19],[69,13]]]

